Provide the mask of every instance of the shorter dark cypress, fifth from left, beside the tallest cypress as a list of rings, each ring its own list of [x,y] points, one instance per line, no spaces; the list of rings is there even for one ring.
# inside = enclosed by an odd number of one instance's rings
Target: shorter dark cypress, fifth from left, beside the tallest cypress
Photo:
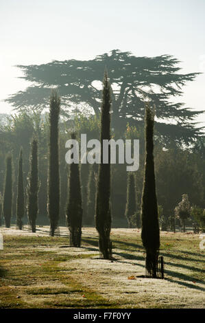
[[[75,133],[71,134],[75,140]],[[82,195],[80,188],[79,164],[69,166],[69,202],[67,205],[67,225],[70,232],[70,245],[80,247],[82,234]]]

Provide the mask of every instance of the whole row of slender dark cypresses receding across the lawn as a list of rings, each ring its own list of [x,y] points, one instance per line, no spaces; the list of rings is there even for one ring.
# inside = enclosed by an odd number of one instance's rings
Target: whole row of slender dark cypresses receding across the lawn
[[[110,140],[110,109],[111,89],[107,72],[104,75],[103,93],[101,102],[101,135],[100,144],[103,151],[103,140]],[[59,176],[59,144],[58,122],[60,118],[60,98],[56,91],[51,93],[50,99],[50,134],[49,134],[49,194],[48,214],[50,219],[50,234],[54,236],[58,227],[60,213],[60,176]],[[158,225],[158,207],[156,200],[156,185],[154,175],[154,112],[147,104],[145,107],[145,173],[143,182],[143,194],[141,201],[141,238],[146,250],[146,269],[149,276],[156,278],[158,252],[160,247],[160,235]],[[75,139],[75,133],[71,134]],[[12,157],[6,159],[5,190],[3,195],[3,215],[6,227],[10,227],[12,209]],[[90,179],[92,180],[92,179]],[[30,173],[28,185],[28,217],[32,232],[36,231],[36,216],[38,214],[38,143],[32,142],[32,154],[30,159]],[[128,176],[128,196],[126,216],[130,221],[135,210],[132,210],[132,199],[135,199],[134,175]],[[18,195],[17,195],[17,225],[22,228],[24,210],[23,188],[23,150],[19,156]],[[70,244],[80,247],[82,234],[82,197],[80,190],[80,170],[78,164],[69,167],[69,201],[67,205],[67,225],[70,231]],[[97,192],[95,201],[95,226],[99,234],[99,252],[105,259],[110,259],[112,244],[110,241],[112,216],[110,208],[110,146],[108,151],[108,164],[99,164],[97,176]]]

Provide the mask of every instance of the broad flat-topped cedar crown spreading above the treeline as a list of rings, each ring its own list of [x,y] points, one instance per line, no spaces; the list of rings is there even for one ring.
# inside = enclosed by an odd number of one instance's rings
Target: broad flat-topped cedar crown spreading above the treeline
[[[143,124],[143,100],[147,96],[156,104],[156,117],[160,118],[160,122],[156,122],[156,131],[164,140],[190,143],[200,133],[200,128],[191,121],[202,111],[187,109],[184,104],[173,102],[173,98],[181,96],[182,87],[198,74],[180,73],[179,63],[170,55],[136,57],[130,52],[114,49],[87,61],[53,60],[42,65],[17,65],[23,71],[24,79],[33,85],[6,101],[19,110],[42,110],[48,105],[51,87],[58,86],[64,115],[70,114],[70,107],[76,105],[99,115],[99,82],[106,66],[110,71],[110,85],[113,85],[110,94],[115,128],[124,130],[128,120],[130,124]]]

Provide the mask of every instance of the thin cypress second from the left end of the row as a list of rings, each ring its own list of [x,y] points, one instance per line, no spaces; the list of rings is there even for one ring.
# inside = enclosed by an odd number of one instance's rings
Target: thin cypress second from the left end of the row
[[[19,230],[22,230],[24,216],[24,188],[23,188],[23,148],[21,147],[19,154],[19,169],[18,169],[18,186],[16,199],[16,225]]]

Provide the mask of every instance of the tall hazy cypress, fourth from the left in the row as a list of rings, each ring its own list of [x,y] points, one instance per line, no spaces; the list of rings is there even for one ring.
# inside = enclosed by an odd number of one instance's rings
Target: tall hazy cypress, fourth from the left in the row
[[[52,91],[49,110],[49,196],[48,214],[50,219],[50,234],[54,236],[58,227],[60,214],[60,174],[59,174],[59,143],[58,122],[60,115],[60,97],[57,91]]]

